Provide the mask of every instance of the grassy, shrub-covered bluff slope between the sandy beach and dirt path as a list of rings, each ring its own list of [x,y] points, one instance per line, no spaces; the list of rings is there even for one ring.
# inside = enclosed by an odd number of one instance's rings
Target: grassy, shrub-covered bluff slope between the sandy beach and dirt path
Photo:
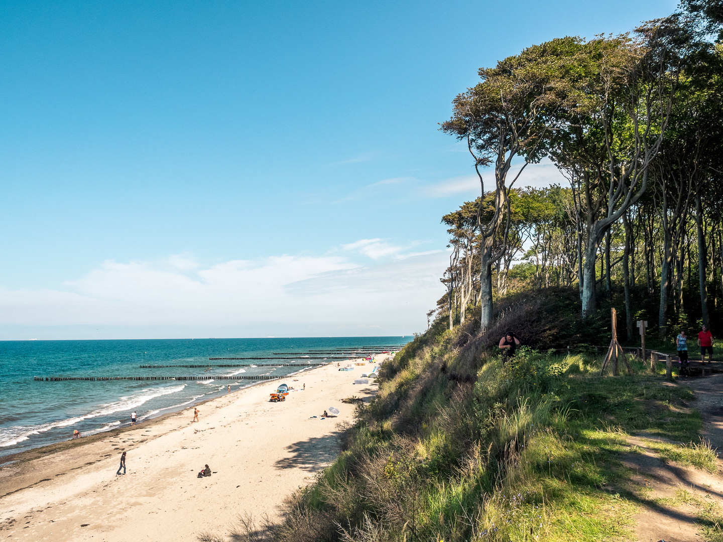
[[[702,425],[688,388],[641,362],[633,369],[599,377],[591,357],[525,349],[502,366],[438,322],[384,365],[343,453],[288,502],[273,538],[627,540],[638,501],[616,460],[625,434],[698,442]],[[714,461],[706,447],[661,454]],[[720,535],[716,513],[703,518],[710,539]]]

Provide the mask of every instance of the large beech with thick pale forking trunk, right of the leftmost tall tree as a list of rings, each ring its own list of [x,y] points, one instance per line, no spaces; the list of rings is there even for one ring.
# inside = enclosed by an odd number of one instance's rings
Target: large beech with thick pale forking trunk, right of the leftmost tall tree
[[[556,132],[550,155],[580,186],[586,216],[583,318],[596,309],[597,251],[612,225],[645,193],[667,129],[677,57],[663,38],[673,26],[641,28],[637,40],[623,35],[586,43],[578,103],[560,111],[567,124]],[[606,252],[609,277],[609,244]]]

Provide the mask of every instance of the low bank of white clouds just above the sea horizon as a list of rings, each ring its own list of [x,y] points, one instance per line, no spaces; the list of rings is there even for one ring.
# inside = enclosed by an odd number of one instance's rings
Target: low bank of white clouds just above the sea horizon
[[[194,327],[203,334],[233,328],[239,337],[419,331],[444,293],[439,276],[447,256],[401,258],[399,252],[381,239],[364,239],[343,246],[343,256],[282,255],[211,266],[190,257],[107,261],[65,288],[0,288],[0,339],[16,338],[9,335],[18,326],[176,326],[186,337]],[[360,265],[351,259],[359,253],[388,261]]]

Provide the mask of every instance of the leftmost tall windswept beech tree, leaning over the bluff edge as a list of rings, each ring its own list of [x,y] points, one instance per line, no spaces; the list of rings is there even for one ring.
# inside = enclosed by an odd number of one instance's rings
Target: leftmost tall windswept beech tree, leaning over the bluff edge
[[[493,168],[494,189],[489,192],[494,194],[494,212],[483,222],[482,210],[478,211],[483,329],[492,321],[492,266],[507,248],[503,243],[494,250],[502,224],[505,219],[509,222],[510,189],[525,166],[545,154],[547,135],[557,122],[555,112],[569,96],[568,76],[580,43],[578,38],[552,40],[510,56],[494,68],[479,69],[482,82],[455,98],[453,116],[442,124],[444,132],[466,142],[482,196],[482,169]],[[523,163],[508,182],[516,157],[523,158]]]

